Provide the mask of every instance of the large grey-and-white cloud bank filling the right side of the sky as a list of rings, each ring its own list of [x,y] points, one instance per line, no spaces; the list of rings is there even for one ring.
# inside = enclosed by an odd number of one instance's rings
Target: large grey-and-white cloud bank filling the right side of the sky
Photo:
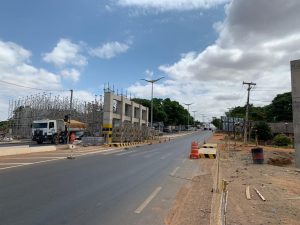
[[[224,21],[214,25],[219,33],[214,44],[159,67],[169,80],[161,84],[165,92],[157,94],[191,101],[198,112],[220,115],[228,107],[245,104],[243,81],[257,83],[251,93],[256,105],[290,91],[289,62],[300,58],[300,2],[233,0],[225,10]],[[130,90],[143,93],[141,85]]]

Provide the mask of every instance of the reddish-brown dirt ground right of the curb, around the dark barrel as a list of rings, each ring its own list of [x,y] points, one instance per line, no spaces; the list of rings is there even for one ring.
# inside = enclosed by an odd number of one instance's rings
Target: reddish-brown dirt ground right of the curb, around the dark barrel
[[[221,176],[229,181],[227,224],[299,224],[300,171],[295,169],[294,149],[260,146],[264,149],[265,163],[253,164],[253,147],[237,147],[234,150],[234,146],[229,145],[221,151]],[[270,158],[286,159],[291,164],[270,165],[267,164]],[[246,199],[247,186],[250,187],[251,200]]]

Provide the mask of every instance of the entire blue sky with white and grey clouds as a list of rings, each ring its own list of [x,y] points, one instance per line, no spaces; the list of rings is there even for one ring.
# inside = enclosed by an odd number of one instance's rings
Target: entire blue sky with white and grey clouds
[[[201,121],[244,105],[243,81],[267,105],[291,90],[299,11],[299,0],[2,0],[0,120],[9,100],[43,90],[88,101],[109,83],[150,99],[141,79],[162,76],[154,97],[193,103]]]

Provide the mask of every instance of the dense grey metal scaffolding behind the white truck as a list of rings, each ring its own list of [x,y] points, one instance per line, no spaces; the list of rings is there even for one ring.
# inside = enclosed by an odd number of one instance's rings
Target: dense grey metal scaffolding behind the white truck
[[[70,111],[70,97],[39,93],[18,100],[9,101],[8,118],[11,133],[15,138],[30,138],[31,124],[40,119],[64,119],[71,114],[72,119],[88,124],[92,135],[101,135],[102,99],[86,102],[73,99]]]

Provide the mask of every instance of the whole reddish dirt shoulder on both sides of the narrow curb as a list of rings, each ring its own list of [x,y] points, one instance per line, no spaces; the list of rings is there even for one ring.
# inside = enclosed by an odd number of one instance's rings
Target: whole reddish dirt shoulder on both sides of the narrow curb
[[[226,144],[224,136],[220,134],[214,135],[208,142],[218,143],[220,180],[229,182],[226,224],[299,224],[300,170],[295,168],[294,149],[261,146],[265,162],[253,164],[251,148],[255,146]],[[270,158],[273,162],[285,159],[284,162],[290,163],[284,166],[268,164]],[[206,174],[195,177],[194,182],[181,188],[165,224],[217,224],[215,221],[220,218],[220,194],[211,192],[215,182],[216,161],[199,159],[199,169],[206,171]],[[246,198],[247,186],[250,200]],[[254,188],[266,201],[258,196]]]

